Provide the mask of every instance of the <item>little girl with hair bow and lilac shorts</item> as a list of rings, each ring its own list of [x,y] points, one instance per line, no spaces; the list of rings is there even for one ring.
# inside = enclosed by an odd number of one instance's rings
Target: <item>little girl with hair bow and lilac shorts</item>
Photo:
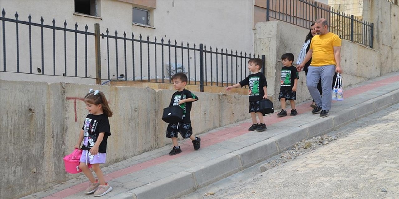
[[[85,96],[85,103],[90,114],[86,116],[75,148],[80,148],[83,140],[83,153],[79,167],[90,181],[85,193],[94,192],[94,196],[101,196],[112,190],[112,187],[105,182],[100,164],[105,163],[107,156],[107,138],[111,135],[108,117],[111,117],[113,113],[103,92],[98,90],[90,89]],[[87,166],[88,164],[91,164],[97,180]]]

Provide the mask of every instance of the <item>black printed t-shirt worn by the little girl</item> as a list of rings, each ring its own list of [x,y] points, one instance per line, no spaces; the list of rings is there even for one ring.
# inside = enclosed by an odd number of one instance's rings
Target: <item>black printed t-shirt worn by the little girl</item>
[[[109,125],[109,119],[107,115],[93,115],[89,114],[86,116],[85,122],[83,123],[83,150],[90,150],[97,141],[100,133],[105,133],[103,140],[99,146],[99,153],[105,153],[107,151],[107,139],[111,135],[111,127]]]

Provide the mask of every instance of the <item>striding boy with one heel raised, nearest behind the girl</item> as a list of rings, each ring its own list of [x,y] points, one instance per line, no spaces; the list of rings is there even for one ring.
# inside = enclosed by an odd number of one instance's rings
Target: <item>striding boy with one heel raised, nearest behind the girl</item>
[[[183,138],[190,138],[192,140],[194,150],[198,150],[201,147],[201,139],[194,137],[193,129],[191,127],[190,111],[193,101],[197,101],[198,97],[192,94],[189,90],[184,89],[187,84],[187,76],[184,73],[176,73],[172,76],[173,87],[177,90],[172,95],[169,107],[179,105],[183,108],[183,120],[178,123],[170,123],[166,129],[166,137],[171,138],[173,142],[173,148],[169,152],[170,156],[176,155],[182,152],[178,142],[177,135],[180,133]]]

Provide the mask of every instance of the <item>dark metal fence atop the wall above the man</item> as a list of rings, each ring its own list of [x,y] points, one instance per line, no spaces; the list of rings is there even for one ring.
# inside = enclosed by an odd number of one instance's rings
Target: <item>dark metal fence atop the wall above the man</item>
[[[266,0],[266,21],[276,19],[310,28],[310,24],[319,18],[325,18],[329,22],[330,31],[341,39],[373,48],[373,23],[344,14],[316,1]]]

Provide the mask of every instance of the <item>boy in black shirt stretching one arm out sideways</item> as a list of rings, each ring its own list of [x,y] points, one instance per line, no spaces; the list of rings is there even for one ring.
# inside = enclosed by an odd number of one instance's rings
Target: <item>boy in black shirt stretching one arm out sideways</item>
[[[263,114],[259,112],[259,101],[262,99],[267,99],[267,82],[265,75],[261,73],[261,68],[263,66],[263,61],[259,58],[253,58],[248,61],[248,69],[253,72],[247,78],[242,80],[240,83],[234,84],[226,88],[227,91],[232,88],[243,87],[249,85],[249,112],[251,113],[251,118],[253,125],[248,129],[249,131],[265,131],[266,125],[263,122]],[[258,124],[256,120],[256,113],[259,117]]]

